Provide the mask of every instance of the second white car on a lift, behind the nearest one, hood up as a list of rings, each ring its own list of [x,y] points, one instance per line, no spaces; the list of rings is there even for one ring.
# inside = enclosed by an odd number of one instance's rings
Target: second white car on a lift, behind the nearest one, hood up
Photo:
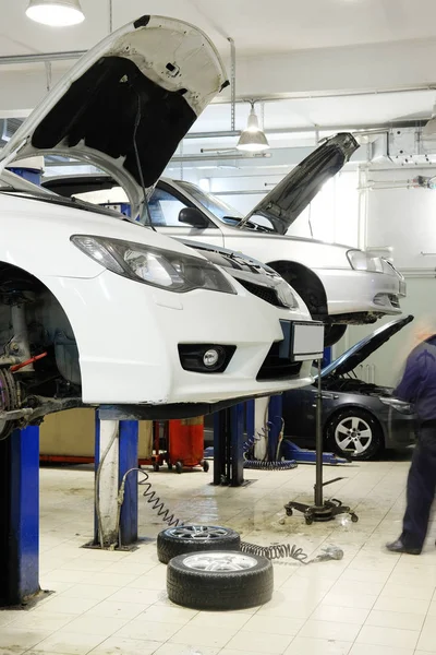
[[[225,246],[265,262],[300,294],[312,317],[325,323],[325,345],[332,345],[349,324],[401,314],[400,298],[405,296],[404,278],[388,260],[351,246],[287,236],[358,147],[350,133],[325,141],[247,216],[191,182],[161,179],[149,200],[152,225],[167,236]],[[45,186],[90,202],[123,202],[122,190],[105,176],[52,178]]]

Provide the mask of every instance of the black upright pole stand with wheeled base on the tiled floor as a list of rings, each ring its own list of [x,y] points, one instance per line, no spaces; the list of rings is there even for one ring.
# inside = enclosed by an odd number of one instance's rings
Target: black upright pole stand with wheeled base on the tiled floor
[[[320,359],[318,360],[318,393],[316,396],[316,474],[315,474],[315,502],[313,505],[304,504],[302,502],[288,502],[284,505],[287,516],[292,516],[293,511],[302,512],[307,525],[312,525],[314,522],[327,522],[332,521],[335,516],[339,514],[350,514],[351,521],[356,523],[359,516],[347,505],[343,505],[340,500],[332,498],[331,500],[324,500],[323,487],[331,485],[343,478],[335,478],[328,483],[323,483],[323,396],[322,396],[322,379],[320,379],[322,365]]]

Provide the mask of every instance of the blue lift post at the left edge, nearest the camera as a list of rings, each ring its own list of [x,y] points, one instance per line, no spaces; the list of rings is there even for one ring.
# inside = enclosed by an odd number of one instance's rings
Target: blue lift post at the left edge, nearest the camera
[[[0,607],[39,593],[39,427],[29,426],[0,441]]]

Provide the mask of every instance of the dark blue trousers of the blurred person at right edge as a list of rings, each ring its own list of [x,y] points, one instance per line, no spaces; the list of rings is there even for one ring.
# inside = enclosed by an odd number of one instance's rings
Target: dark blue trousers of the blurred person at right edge
[[[427,534],[429,512],[436,492],[436,420],[419,430],[408,478],[408,507],[401,541],[407,548],[422,548]]]

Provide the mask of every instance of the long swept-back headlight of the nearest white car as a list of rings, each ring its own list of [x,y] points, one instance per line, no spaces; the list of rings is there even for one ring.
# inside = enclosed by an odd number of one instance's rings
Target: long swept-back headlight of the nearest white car
[[[106,237],[74,235],[71,241],[108,271],[143,284],[179,294],[237,293],[217,266],[197,257]]]

